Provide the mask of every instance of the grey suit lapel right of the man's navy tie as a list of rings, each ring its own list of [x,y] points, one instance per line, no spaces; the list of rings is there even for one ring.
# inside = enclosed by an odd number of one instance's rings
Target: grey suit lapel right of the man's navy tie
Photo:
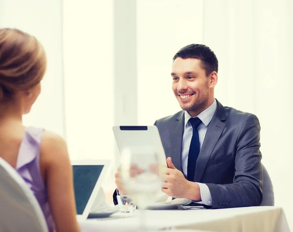
[[[213,148],[215,147],[224,128],[226,127],[226,124],[222,122],[225,120],[226,120],[225,109],[223,105],[221,105],[217,101],[216,112],[209,123],[204,143],[200,149],[200,152],[196,161],[194,182],[200,182],[204,174],[204,171],[206,169],[207,163],[209,161],[209,157],[213,151]]]

